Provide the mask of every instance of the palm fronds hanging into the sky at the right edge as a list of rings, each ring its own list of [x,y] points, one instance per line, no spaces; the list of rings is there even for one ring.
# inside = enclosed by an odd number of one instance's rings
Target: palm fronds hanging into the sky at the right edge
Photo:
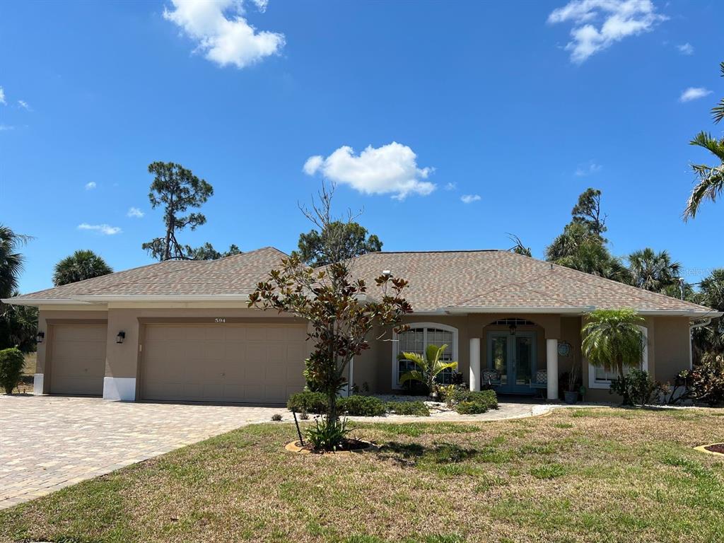
[[[724,77],[724,62],[720,65],[722,77]],[[712,108],[712,116],[714,122],[720,122],[724,119],[724,98],[719,101],[717,106]],[[710,151],[720,162],[718,166],[707,166],[706,164],[692,164],[691,169],[694,170],[698,183],[694,190],[691,191],[689,202],[686,203],[686,209],[683,211],[683,219],[689,220],[696,216],[699,206],[704,200],[715,202],[716,199],[724,193],[724,138],[717,140],[712,138],[707,132],[699,132],[689,145],[703,147]]]

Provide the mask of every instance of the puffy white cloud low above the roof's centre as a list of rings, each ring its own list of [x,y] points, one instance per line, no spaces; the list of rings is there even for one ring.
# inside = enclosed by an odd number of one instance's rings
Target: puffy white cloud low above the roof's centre
[[[358,155],[353,148],[343,146],[326,159],[309,157],[303,169],[308,175],[321,172],[327,179],[363,194],[392,194],[398,200],[435,190],[434,183],[426,181],[434,168],[418,168],[413,150],[395,141],[378,148],[369,146]]]

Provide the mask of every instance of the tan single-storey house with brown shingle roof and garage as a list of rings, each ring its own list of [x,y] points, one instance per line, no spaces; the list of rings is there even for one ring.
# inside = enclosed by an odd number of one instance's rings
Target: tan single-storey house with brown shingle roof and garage
[[[258,281],[285,254],[274,248],[217,261],[165,261],[4,300],[38,306],[35,394],[109,400],[283,403],[303,389],[307,324],[248,308]],[[473,390],[558,395],[580,369],[587,399],[607,400],[614,374],[581,354],[581,325],[594,308],[644,317],[641,367],[672,381],[691,366],[692,326],[721,313],[508,251],[380,252],[355,258],[367,280],[389,270],[408,279],[410,329],[376,330],[350,365],[350,382],[399,388],[401,351],[447,344]],[[384,337],[379,338],[383,335]]]

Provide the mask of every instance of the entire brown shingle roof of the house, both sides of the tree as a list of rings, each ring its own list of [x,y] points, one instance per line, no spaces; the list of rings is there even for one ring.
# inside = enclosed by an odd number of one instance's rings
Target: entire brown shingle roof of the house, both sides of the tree
[[[16,298],[73,300],[107,296],[245,297],[279,266],[285,253],[272,247],[216,261],[166,261],[87,279]],[[382,295],[374,278],[383,270],[407,279],[405,298],[414,311],[490,311],[500,308],[550,311],[628,307],[710,316],[710,308],[551,265],[509,251],[379,252],[355,258],[355,278],[369,295]]]

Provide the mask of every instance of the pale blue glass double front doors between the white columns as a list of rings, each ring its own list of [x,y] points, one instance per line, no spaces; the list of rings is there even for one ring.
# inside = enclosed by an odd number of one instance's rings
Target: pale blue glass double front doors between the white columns
[[[535,332],[489,332],[488,369],[500,376],[491,381],[495,390],[507,394],[530,394],[536,367]]]

